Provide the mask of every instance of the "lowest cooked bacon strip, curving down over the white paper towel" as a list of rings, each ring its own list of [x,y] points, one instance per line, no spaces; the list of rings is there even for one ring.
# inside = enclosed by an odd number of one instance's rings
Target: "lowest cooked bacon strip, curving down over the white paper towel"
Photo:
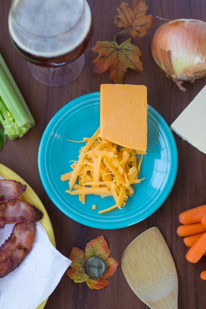
[[[17,223],[10,237],[0,247],[0,278],[19,266],[32,250],[36,235],[36,224]]]

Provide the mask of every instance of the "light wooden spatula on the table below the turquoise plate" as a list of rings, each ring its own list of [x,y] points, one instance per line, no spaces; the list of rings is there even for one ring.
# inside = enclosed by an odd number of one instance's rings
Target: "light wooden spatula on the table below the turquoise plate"
[[[177,271],[157,227],[146,230],[128,245],[121,266],[129,286],[149,308],[178,308]]]

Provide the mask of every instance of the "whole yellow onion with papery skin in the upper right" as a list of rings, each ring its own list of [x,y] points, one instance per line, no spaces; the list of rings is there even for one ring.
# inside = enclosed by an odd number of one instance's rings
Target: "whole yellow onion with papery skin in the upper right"
[[[206,23],[176,19],[154,33],[151,45],[154,61],[181,90],[183,82],[206,76]]]

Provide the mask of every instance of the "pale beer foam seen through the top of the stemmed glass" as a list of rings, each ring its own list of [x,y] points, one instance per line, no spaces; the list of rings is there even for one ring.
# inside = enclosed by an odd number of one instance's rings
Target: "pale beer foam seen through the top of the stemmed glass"
[[[91,12],[84,0],[16,0],[9,13],[12,39],[37,57],[56,57],[74,50],[90,24]]]

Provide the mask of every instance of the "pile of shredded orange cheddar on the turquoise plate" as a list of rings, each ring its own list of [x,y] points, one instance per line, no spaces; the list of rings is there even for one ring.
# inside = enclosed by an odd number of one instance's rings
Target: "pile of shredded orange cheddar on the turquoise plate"
[[[137,150],[120,147],[100,138],[99,132],[98,129],[91,138],[83,139],[86,145],[81,147],[78,161],[72,161],[73,171],[61,175],[61,180],[69,180],[69,190],[66,192],[78,194],[83,204],[86,194],[113,196],[115,205],[99,211],[101,214],[125,206],[128,196],[132,197],[134,193],[131,184],[145,178],[138,179],[143,154],[137,163]]]

